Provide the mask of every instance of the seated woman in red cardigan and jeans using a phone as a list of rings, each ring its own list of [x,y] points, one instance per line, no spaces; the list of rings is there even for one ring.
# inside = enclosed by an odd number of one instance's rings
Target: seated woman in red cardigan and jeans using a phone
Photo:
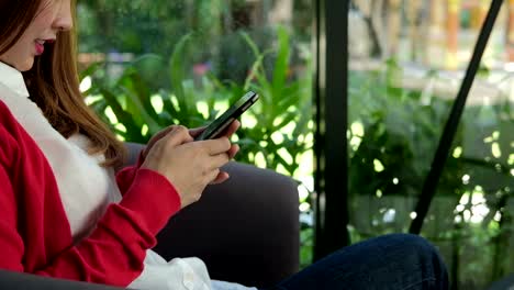
[[[0,1],[0,268],[141,289],[247,289],[211,281],[200,259],[150,248],[238,150],[199,130],[157,134],[136,166],[82,101],[70,0]],[[278,289],[445,289],[437,252],[391,235],[343,249]]]

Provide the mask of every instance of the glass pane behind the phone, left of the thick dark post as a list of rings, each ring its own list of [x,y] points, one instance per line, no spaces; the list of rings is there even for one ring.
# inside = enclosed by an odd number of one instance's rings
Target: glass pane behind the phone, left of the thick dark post
[[[78,5],[81,89],[121,138],[145,143],[170,124],[213,120],[247,90],[238,161],[312,192],[312,1],[89,0]],[[236,138],[237,140],[237,138]],[[311,219],[302,252],[310,260]]]

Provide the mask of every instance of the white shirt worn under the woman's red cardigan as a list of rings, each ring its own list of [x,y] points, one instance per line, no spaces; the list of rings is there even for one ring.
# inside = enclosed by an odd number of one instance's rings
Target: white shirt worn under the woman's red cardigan
[[[23,76],[0,62],[0,100],[11,110],[42,149],[55,175],[60,199],[74,241],[87,236],[111,202],[122,199],[114,170],[101,167],[104,156],[87,153],[89,140],[76,134],[63,137],[46,120],[40,108],[29,99]],[[144,270],[130,286],[135,289],[244,290],[235,283],[211,281],[204,263],[199,258],[176,258],[166,261],[148,249]]]

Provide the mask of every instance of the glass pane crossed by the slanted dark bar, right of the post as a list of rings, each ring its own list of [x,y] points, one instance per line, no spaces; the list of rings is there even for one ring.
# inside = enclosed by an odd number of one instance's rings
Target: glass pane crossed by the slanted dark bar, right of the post
[[[491,1],[356,0],[349,12],[353,242],[406,232]],[[512,5],[470,92],[423,235],[459,289],[514,270]]]

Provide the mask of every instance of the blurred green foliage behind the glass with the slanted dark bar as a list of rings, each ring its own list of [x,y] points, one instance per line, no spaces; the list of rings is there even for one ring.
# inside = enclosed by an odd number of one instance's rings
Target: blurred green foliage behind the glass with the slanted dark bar
[[[451,100],[405,89],[393,60],[349,79],[353,242],[406,232]],[[436,77],[431,72],[429,78]],[[469,105],[425,220],[454,281],[487,286],[512,271],[514,115],[509,101]],[[484,270],[488,269],[488,270]],[[469,289],[469,288],[466,288]]]

